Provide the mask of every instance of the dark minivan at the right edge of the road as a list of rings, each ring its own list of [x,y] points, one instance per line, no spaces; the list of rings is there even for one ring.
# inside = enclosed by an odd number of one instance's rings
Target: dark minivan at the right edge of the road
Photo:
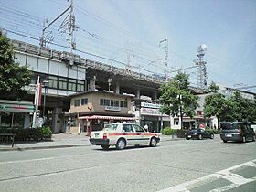
[[[224,143],[228,141],[243,142],[255,141],[255,133],[250,123],[223,122],[220,123],[220,138]]]

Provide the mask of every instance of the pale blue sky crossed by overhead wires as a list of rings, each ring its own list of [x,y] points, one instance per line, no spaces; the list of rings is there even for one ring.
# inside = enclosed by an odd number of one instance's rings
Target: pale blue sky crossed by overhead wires
[[[255,0],[73,0],[77,54],[120,68],[169,77],[183,69],[197,86],[197,47],[207,45],[208,84],[256,92]],[[68,6],[67,0],[0,0],[0,28],[7,37],[38,45],[44,19],[48,23]],[[69,46],[58,28],[48,28],[53,43]],[[168,65],[165,45],[168,40]],[[49,44],[48,48],[65,50]],[[94,56],[92,56],[93,54]]]

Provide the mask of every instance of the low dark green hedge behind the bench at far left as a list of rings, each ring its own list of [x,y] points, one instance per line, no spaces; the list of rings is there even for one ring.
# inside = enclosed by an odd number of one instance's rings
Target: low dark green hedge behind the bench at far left
[[[31,128],[0,128],[0,133],[15,133],[15,141],[48,141],[52,132],[49,127]]]

